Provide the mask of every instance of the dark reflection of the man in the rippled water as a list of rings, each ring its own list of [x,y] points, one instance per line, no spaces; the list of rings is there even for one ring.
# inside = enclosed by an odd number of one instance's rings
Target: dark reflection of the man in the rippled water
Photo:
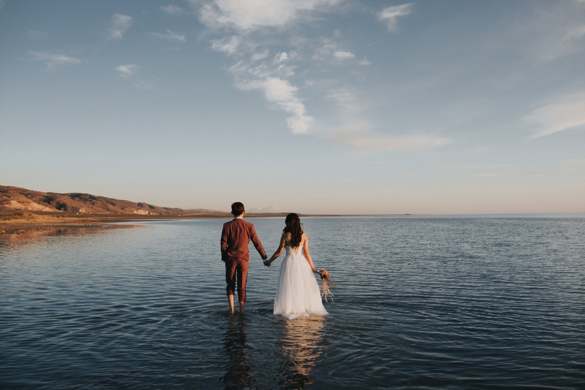
[[[254,368],[250,360],[250,350],[246,341],[246,317],[231,316],[229,325],[223,333],[223,347],[228,355],[228,367],[223,375],[225,390],[249,389],[256,387],[252,376]]]

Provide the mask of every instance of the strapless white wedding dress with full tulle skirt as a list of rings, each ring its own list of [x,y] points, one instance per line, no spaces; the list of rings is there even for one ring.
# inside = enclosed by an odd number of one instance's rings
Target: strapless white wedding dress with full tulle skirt
[[[302,247],[286,246],[285,249],[287,254],[280,266],[274,298],[274,315],[293,319],[310,314],[329,314],[321,301],[321,291],[311,266],[302,254]]]

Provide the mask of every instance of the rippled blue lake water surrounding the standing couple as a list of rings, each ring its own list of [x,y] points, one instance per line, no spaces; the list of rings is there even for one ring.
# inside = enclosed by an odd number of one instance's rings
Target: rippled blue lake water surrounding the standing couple
[[[250,218],[267,253],[284,219]],[[272,315],[225,219],[0,241],[4,389],[584,389],[585,216],[301,218],[329,315]]]

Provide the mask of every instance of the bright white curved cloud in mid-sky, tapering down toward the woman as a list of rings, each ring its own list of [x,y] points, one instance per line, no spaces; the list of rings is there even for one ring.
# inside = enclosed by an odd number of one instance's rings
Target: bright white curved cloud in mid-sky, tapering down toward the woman
[[[295,96],[298,88],[291,85],[287,80],[278,77],[268,77],[264,81],[240,82],[236,86],[242,89],[242,91],[262,89],[264,96],[269,102],[274,102],[285,112],[292,114],[292,116],[287,118],[287,124],[293,134],[304,134],[308,132],[313,118],[307,115],[305,105]]]

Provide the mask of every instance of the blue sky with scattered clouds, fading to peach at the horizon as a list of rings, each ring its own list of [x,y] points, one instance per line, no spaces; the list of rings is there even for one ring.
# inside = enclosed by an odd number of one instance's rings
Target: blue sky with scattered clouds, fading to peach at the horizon
[[[0,4],[3,185],[585,212],[585,1]]]

